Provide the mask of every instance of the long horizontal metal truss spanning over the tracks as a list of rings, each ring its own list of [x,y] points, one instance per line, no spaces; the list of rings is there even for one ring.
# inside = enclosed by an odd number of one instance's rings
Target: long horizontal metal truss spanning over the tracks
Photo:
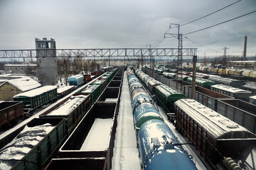
[[[183,57],[196,55],[197,48],[183,48]],[[178,48],[109,48],[109,49],[47,49],[0,50],[0,59],[25,57],[83,57],[85,59],[139,60],[150,57],[178,57]]]

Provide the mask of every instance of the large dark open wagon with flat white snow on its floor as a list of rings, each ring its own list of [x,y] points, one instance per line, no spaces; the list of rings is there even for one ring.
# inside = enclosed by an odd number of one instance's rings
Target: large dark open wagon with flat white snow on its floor
[[[111,169],[114,136],[117,128],[117,109],[117,103],[95,103],[68,137],[68,140],[60,147],[60,158],[71,160],[104,157],[106,158],[106,169]],[[98,120],[104,121],[106,127],[102,128],[97,123]],[[95,137],[89,137],[90,134]],[[82,148],[83,144],[87,145],[84,149]],[[77,169],[77,166],[80,165],[73,164],[73,169]]]

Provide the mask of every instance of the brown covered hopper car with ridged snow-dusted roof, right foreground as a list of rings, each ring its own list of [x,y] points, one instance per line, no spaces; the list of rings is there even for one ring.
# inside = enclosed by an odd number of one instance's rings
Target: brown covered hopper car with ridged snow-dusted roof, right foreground
[[[202,157],[217,164],[224,157],[245,161],[255,134],[192,99],[175,102],[176,127]]]

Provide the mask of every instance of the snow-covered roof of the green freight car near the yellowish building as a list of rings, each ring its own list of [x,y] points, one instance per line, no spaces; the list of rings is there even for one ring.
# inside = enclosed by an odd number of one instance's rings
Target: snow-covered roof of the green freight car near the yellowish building
[[[56,86],[42,86],[42,87],[40,87],[38,89],[33,89],[31,91],[26,91],[24,93],[17,94],[17,95],[14,96],[14,98],[16,98],[16,97],[23,97],[23,96],[25,96],[25,97],[38,96],[38,95],[41,95],[41,94],[43,94],[43,93],[45,93],[47,91],[51,91],[53,89],[57,89],[57,87]]]

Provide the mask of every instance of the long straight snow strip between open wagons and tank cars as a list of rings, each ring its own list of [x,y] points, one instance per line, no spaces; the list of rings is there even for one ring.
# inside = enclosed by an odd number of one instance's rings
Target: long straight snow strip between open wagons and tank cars
[[[124,72],[119,115],[117,118],[112,169],[141,169],[126,72]]]

